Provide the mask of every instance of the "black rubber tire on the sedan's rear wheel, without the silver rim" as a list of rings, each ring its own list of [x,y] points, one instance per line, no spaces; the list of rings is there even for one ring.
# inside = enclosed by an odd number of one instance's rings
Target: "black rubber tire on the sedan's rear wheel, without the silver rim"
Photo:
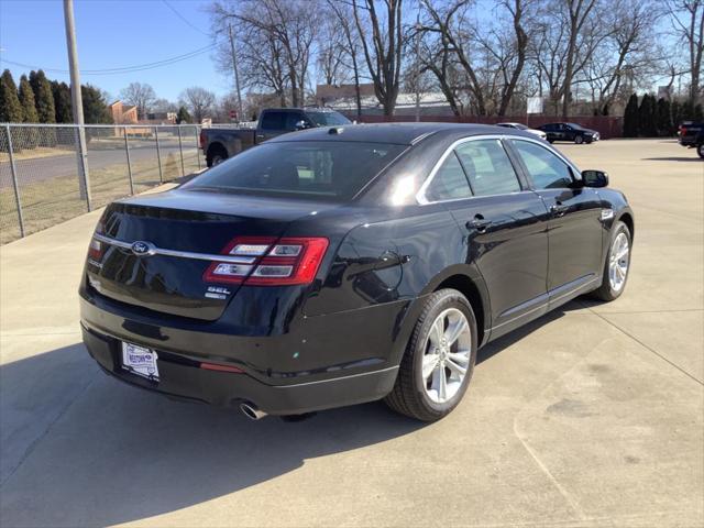
[[[470,361],[462,385],[457,393],[444,403],[436,403],[430,399],[426,391],[426,381],[422,380],[422,359],[431,327],[438,316],[448,309],[455,308],[466,318],[470,327],[472,343],[470,346]],[[384,402],[396,413],[409,416],[420,421],[436,421],[443,418],[454,409],[462,400],[464,393],[472,380],[474,363],[476,362],[476,318],[466,297],[455,289],[440,289],[432,294],[422,309],[414,328],[406,353],[400,362],[398,377],[394,389]]]

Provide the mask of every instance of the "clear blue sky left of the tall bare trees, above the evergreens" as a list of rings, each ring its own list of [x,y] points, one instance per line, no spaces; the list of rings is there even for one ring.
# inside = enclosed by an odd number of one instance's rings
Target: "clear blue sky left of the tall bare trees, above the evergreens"
[[[111,96],[132,81],[148,82],[157,97],[176,100],[189,86],[202,86],[218,95],[231,89],[218,74],[212,52],[142,72],[89,75],[87,70],[122,68],[154,63],[194,52],[212,42],[208,1],[168,0],[187,22],[162,0],[75,0],[76,35],[81,82],[90,82]],[[204,33],[199,32],[202,31]],[[43,68],[50,79],[68,82],[66,34],[62,0],[0,0],[0,70],[20,75]],[[8,61],[31,67],[15,66]],[[86,70],[86,72],[84,72]]]

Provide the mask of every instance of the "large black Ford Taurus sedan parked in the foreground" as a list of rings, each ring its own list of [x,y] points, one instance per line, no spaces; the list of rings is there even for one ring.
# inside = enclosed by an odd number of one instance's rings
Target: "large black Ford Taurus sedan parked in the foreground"
[[[532,134],[376,124],[280,136],[106,209],[80,284],[111,375],[251,418],[384,398],[431,421],[477,348],[615,299],[634,215]]]

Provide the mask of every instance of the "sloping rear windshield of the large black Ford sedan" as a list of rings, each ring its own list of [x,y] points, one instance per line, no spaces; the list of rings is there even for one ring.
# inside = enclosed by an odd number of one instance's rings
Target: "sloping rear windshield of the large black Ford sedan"
[[[339,141],[264,143],[191,179],[188,190],[346,200],[406,145]]]

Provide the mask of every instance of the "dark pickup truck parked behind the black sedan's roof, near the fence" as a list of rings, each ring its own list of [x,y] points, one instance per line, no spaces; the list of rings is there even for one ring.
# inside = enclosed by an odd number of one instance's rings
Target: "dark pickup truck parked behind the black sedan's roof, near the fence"
[[[315,127],[351,124],[339,112],[322,108],[267,108],[262,110],[255,129],[210,128],[200,131],[200,147],[209,167],[263,141]]]

